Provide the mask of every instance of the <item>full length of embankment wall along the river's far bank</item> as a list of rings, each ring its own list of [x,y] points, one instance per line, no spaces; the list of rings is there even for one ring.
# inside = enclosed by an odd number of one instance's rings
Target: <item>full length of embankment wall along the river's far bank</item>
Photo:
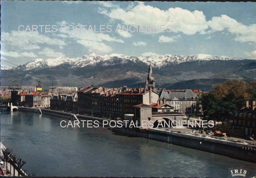
[[[35,108],[25,108],[19,107],[19,111],[28,112],[39,112]],[[75,120],[74,114],[65,113],[62,111],[52,111],[49,109],[41,109],[43,114],[48,114],[52,116],[58,116],[61,118],[66,118],[69,120]],[[96,118],[93,116],[75,115],[78,120],[98,120],[100,125],[104,120],[103,118]],[[110,120],[108,120],[110,121]],[[207,151],[210,153],[220,154],[224,156],[229,156],[231,158],[236,158],[239,160],[245,160],[248,162],[256,162],[256,146],[247,145],[243,143],[228,142],[226,140],[219,140],[213,138],[206,138],[201,136],[196,136],[192,134],[185,133],[175,133],[171,131],[164,131],[162,129],[130,129],[130,128],[111,128],[114,132],[129,134],[133,136],[139,136],[151,140],[157,140],[166,143],[172,143],[175,145],[180,145],[184,147],[189,147],[201,151]]]

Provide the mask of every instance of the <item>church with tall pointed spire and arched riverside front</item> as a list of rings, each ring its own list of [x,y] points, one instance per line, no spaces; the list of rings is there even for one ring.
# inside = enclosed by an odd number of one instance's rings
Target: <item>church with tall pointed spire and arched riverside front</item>
[[[141,129],[158,127],[161,123],[169,123],[170,127],[182,127],[184,114],[175,112],[174,107],[166,104],[164,98],[163,100],[159,99],[159,94],[156,93],[156,81],[151,62],[143,95],[145,96],[143,103],[133,106],[135,109],[133,120],[139,124]]]

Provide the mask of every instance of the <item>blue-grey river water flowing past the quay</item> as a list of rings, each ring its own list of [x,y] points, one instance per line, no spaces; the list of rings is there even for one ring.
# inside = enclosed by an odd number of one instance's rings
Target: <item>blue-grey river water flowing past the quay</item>
[[[256,164],[177,145],[122,136],[106,128],[61,128],[62,118],[1,112],[1,142],[36,176],[256,176]]]

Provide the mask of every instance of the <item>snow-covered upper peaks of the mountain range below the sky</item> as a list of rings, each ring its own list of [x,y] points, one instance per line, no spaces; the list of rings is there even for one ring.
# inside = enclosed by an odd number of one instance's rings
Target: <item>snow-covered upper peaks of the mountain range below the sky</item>
[[[116,64],[126,64],[128,62],[143,62],[145,64],[152,63],[153,67],[161,68],[166,65],[177,65],[184,62],[191,62],[197,60],[243,60],[242,58],[230,58],[227,56],[211,56],[208,54],[198,54],[198,55],[190,55],[190,56],[182,56],[182,55],[158,55],[152,54],[147,56],[126,56],[123,54],[110,54],[110,55],[98,55],[95,53],[85,55],[83,57],[76,58],[68,58],[68,57],[58,57],[58,58],[36,58],[26,64],[19,65],[18,67],[14,67],[14,69],[42,69],[49,67],[56,67],[62,64],[68,64],[71,68],[75,67],[85,67],[87,65],[95,66],[96,64],[101,64],[102,66],[110,66]],[[2,69],[2,68],[1,68]]]

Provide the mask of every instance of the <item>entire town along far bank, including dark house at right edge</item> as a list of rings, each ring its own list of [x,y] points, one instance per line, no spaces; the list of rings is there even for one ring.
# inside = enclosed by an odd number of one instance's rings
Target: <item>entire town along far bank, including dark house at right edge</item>
[[[18,107],[45,108],[111,120],[133,120],[143,123],[153,120],[155,124],[163,121],[187,119],[214,119],[214,114],[205,114],[202,108],[202,92],[199,89],[156,88],[150,63],[145,87],[107,88],[89,85],[79,88],[73,86],[50,86],[42,90],[42,82],[37,86],[0,87],[1,104],[11,103]],[[256,102],[235,111],[228,122],[215,123],[214,130],[229,136],[256,138]],[[216,120],[216,119],[214,119]],[[181,125],[176,125],[181,126]],[[147,126],[143,127],[147,129]]]

